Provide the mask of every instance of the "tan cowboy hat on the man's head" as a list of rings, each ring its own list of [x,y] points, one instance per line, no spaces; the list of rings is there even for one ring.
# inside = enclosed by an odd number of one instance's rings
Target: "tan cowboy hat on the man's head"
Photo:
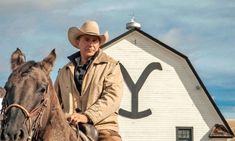
[[[103,35],[100,34],[99,25],[95,21],[86,21],[81,28],[70,27],[68,30],[68,38],[70,43],[78,48],[76,40],[81,35],[94,35],[100,38],[100,45],[103,45],[108,41],[109,34],[105,32]]]

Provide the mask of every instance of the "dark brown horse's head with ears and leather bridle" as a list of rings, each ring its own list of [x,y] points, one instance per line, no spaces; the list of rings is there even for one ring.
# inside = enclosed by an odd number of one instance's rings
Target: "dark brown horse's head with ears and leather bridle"
[[[46,124],[55,50],[42,61],[27,61],[20,49],[11,55],[11,74],[5,84],[1,140],[31,140]]]

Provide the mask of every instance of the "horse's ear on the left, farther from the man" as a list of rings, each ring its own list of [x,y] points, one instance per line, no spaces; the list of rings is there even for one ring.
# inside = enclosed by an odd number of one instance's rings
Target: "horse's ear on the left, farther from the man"
[[[25,62],[25,55],[17,48],[11,55],[11,70],[14,71]]]

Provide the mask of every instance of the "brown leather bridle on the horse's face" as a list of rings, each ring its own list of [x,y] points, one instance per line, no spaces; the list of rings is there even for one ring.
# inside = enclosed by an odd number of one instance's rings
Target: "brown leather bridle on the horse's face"
[[[39,129],[42,126],[42,115],[47,107],[47,101],[48,101],[48,96],[49,94],[47,94],[47,91],[44,93],[44,97],[42,98],[41,102],[30,112],[23,106],[13,103],[10,104],[9,106],[6,106],[6,103],[3,102],[3,108],[2,108],[2,113],[4,115],[4,120],[6,120],[7,118],[7,112],[15,107],[20,109],[23,112],[23,115],[25,117],[25,125],[28,131],[28,137],[27,137],[27,141],[31,141],[33,138],[37,139],[38,138],[38,133],[39,133]],[[4,100],[5,101],[5,100]],[[5,108],[4,108],[5,107]],[[35,118],[34,122],[32,123],[32,119]],[[28,125],[27,125],[27,121],[28,121]],[[3,122],[4,124],[4,122]]]

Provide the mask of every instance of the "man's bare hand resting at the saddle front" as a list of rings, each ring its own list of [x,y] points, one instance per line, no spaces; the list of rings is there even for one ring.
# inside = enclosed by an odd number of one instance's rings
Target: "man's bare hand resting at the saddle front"
[[[77,125],[78,123],[87,123],[88,122],[88,117],[84,114],[80,114],[80,113],[73,113],[72,115],[70,115],[67,120],[74,124]]]

